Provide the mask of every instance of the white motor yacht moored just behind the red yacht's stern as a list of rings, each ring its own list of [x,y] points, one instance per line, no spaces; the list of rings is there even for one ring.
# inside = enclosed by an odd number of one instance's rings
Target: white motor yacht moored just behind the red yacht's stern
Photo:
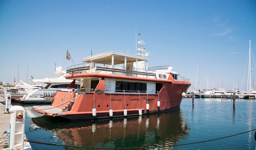
[[[27,92],[20,102],[22,103],[35,103],[35,102],[52,102],[53,97],[57,90],[69,91],[68,86],[73,81],[72,79],[66,79],[66,71],[62,71],[61,67],[56,68],[58,77],[55,78],[45,78],[45,79],[33,79],[32,83],[44,83],[47,84],[45,88],[34,89]],[[76,81],[76,88],[78,88],[79,82]]]

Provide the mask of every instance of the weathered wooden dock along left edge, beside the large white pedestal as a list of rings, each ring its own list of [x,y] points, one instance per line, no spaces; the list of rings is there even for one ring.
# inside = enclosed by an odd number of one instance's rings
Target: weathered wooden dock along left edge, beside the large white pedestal
[[[9,148],[9,136],[4,133],[6,130],[10,130],[10,113],[5,113],[4,91],[0,90],[0,149]],[[24,150],[32,150],[30,144],[27,142],[24,145]]]

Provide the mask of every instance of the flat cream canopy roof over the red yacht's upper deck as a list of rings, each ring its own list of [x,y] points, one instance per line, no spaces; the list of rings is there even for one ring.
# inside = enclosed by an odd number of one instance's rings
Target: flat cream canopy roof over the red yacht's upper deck
[[[146,57],[140,57],[135,55],[129,55],[125,53],[117,53],[114,51],[106,52],[106,53],[100,53],[97,55],[88,56],[82,59],[83,62],[94,62],[94,63],[100,63],[100,64],[112,64],[112,56],[113,56],[113,62],[114,65],[116,64],[124,64],[125,60],[126,63],[129,62],[136,62],[136,60],[139,61],[147,61],[148,58]],[[126,59],[125,59],[126,57]]]

